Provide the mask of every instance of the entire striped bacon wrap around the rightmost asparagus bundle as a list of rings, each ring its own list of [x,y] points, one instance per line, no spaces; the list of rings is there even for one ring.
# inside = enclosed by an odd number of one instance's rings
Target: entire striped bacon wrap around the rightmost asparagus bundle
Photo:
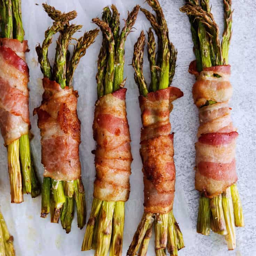
[[[232,95],[229,82],[230,65],[204,68],[199,74],[195,62],[189,72],[197,77],[193,98],[199,107],[199,123],[195,143],[195,188],[208,197],[225,191],[237,181],[235,168],[235,140],[238,133],[231,120],[228,100]],[[207,100],[217,101],[203,106]]]

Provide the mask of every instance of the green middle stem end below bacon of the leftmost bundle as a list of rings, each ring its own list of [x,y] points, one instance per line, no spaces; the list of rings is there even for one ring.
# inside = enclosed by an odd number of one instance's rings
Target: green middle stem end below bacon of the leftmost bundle
[[[20,138],[20,160],[22,173],[22,188],[24,194],[31,193],[31,158],[29,135],[22,135]]]

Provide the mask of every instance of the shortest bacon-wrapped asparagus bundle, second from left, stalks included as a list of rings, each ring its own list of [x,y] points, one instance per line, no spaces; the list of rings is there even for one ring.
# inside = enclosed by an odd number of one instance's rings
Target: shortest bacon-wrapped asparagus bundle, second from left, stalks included
[[[82,28],[81,25],[69,24],[77,16],[76,11],[61,13],[47,4],[43,4],[43,7],[54,22],[45,32],[42,46],[36,47],[45,90],[41,106],[34,109],[41,131],[42,164],[45,168],[41,217],[46,218],[51,212],[51,222],[58,223],[61,218],[62,227],[69,233],[75,203],[78,227],[82,229],[86,221],[85,192],[79,161],[78,92],[73,90],[72,78],[80,58],[94,42],[99,30],[91,30],[79,38],[70,57],[70,40]],[[60,32],[60,36],[52,68],[48,60],[48,47],[57,32]]]

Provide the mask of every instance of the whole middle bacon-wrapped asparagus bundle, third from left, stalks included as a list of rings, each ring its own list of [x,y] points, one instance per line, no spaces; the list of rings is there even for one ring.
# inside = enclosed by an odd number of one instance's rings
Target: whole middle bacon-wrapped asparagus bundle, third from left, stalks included
[[[139,6],[125,20],[119,34],[119,13],[115,5],[103,9],[102,20],[94,18],[102,33],[96,75],[98,100],[95,103],[93,134],[97,142],[96,179],[91,215],[82,250],[95,249],[95,255],[122,255],[124,203],[129,198],[131,147],[123,88],[125,40],[135,23]]]

